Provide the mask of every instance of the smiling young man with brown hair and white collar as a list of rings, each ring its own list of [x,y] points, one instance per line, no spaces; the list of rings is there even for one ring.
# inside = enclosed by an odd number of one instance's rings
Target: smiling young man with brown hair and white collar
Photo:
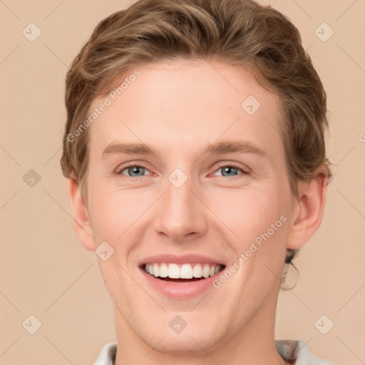
[[[330,364],[274,341],[322,221],[326,94],[299,32],[245,0],[140,0],[66,80],[61,165],[115,304],[96,364]]]

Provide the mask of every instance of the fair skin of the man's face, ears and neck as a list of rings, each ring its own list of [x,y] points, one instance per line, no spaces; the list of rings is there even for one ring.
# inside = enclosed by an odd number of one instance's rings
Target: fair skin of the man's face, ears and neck
[[[279,278],[287,248],[304,245],[321,224],[324,167],[298,183],[298,199],[292,195],[277,133],[279,99],[245,68],[197,60],[139,70],[88,130],[87,204],[69,180],[83,246],[93,251],[106,241],[115,250],[107,261],[97,258],[115,304],[115,364],[287,364],[274,346]],[[253,115],[241,107],[250,95],[261,104]],[[207,145],[224,141],[264,154],[207,153]],[[115,143],[143,143],[155,154],[103,154]],[[176,168],[187,177],[181,187],[168,179]],[[171,298],[138,267],[168,252],[208,255],[228,269],[282,215],[287,221],[219,289]],[[187,323],[179,334],[168,325],[176,315]]]

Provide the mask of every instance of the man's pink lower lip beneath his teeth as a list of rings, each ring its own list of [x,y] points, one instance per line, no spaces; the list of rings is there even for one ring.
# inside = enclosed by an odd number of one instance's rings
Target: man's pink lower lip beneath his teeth
[[[206,279],[200,279],[195,282],[168,282],[158,279],[145,272],[144,269],[140,269],[147,282],[158,292],[164,294],[167,297],[187,299],[195,297],[204,293],[207,289],[212,288],[212,282],[222,272],[218,272],[212,277]]]

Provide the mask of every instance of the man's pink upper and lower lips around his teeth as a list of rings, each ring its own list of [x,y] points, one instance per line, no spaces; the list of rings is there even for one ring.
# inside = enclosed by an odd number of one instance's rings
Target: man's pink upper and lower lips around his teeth
[[[217,272],[217,274],[212,277],[207,277],[206,279],[200,279],[195,282],[168,282],[162,279],[158,279],[153,277],[152,275],[145,272],[143,269],[143,264],[153,264],[153,263],[162,263],[165,262],[167,264],[220,264],[224,268]],[[173,299],[189,299],[192,297],[196,297],[208,289],[212,289],[212,282],[217,279],[217,277],[222,274],[226,265],[220,262],[217,259],[213,259],[211,257],[203,256],[203,255],[155,255],[146,257],[142,261],[138,263],[138,267],[140,269],[141,274],[145,281],[152,287],[155,291],[163,294],[165,297],[170,297]]]

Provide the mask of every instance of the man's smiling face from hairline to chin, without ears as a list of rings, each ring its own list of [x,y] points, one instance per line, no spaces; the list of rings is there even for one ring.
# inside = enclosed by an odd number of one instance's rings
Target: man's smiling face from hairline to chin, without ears
[[[274,318],[293,205],[278,98],[225,63],[138,69],[89,130],[94,245],[114,250],[98,262],[125,331],[208,350]]]

